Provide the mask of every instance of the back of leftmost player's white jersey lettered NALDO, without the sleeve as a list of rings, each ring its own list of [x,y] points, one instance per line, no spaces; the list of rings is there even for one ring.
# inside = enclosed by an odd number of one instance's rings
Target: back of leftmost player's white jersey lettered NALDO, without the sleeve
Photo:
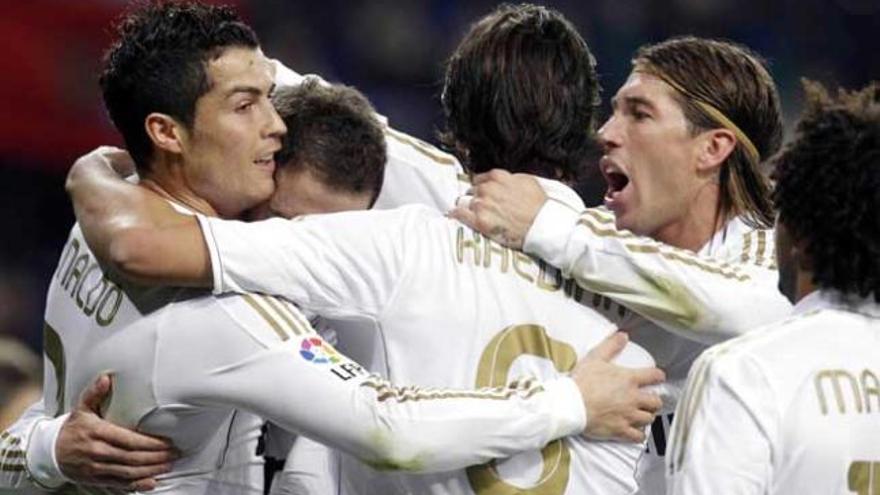
[[[129,428],[171,438],[184,456],[160,483],[160,490],[205,487],[217,477],[221,456],[229,454],[242,479],[261,486],[260,466],[239,457],[253,457],[259,425],[253,417],[237,420],[231,409],[163,407],[153,387],[162,325],[173,322],[174,302],[194,298],[193,291],[124,287],[102,270],[74,227],[49,287],[45,318],[47,356],[44,398],[49,414],[60,415],[76,405],[83,389],[101,373],[113,377],[113,393],[105,417]],[[244,445],[253,443],[254,445]],[[227,463],[228,465],[228,463]],[[228,476],[230,473],[223,474]],[[221,478],[222,478],[221,476]],[[250,482],[250,481],[249,481]]]

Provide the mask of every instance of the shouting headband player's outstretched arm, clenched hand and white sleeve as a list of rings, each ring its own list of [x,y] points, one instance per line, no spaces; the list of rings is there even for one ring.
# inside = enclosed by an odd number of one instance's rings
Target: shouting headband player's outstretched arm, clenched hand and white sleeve
[[[546,200],[528,175],[493,170],[474,184],[473,199],[454,217],[683,337],[713,344],[791,310],[766,267],[718,262],[618,230],[610,212]]]

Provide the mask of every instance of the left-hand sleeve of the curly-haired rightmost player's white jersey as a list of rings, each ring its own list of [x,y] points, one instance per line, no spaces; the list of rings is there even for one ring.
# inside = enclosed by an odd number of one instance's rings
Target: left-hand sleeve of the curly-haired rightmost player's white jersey
[[[712,348],[691,368],[666,456],[669,494],[769,493],[773,392],[756,363],[724,352]]]

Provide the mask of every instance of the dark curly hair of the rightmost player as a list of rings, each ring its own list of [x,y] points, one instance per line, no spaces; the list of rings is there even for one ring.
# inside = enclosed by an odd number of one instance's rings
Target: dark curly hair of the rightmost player
[[[773,160],[779,222],[805,244],[816,285],[880,302],[880,85],[804,89],[795,139]]]

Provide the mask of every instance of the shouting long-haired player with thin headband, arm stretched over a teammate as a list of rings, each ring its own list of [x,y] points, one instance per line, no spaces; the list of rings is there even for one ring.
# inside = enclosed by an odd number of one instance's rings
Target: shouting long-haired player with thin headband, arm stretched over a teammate
[[[779,98],[748,49],[685,37],[642,47],[612,106],[599,130],[610,211],[547,201],[532,178],[496,170],[475,178],[455,216],[673,332],[623,322],[680,393],[707,344],[790,311],[759,170],[782,140]],[[644,493],[664,491],[671,420],[654,425]]]

